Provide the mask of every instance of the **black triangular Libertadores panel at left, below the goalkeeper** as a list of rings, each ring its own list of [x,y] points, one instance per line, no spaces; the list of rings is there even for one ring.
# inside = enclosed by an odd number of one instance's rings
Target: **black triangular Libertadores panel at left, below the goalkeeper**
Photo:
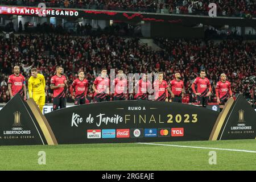
[[[16,94],[0,111],[0,145],[47,144],[27,103]]]

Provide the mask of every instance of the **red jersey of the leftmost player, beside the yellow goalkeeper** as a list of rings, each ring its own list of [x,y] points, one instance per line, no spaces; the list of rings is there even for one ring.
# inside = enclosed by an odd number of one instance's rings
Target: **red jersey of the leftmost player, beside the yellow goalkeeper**
[[[11,84],[11,93],[13,96],[16,95],[16,93],[19,93],[23,95],[23,84],[26,84],[24,76],[19,74],[19,76],[10,75],[8,78],[8,84]]]

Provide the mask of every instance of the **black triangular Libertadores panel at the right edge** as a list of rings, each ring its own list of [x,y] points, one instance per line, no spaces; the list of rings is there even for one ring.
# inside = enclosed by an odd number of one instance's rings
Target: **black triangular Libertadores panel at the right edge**
[[[229,110],[218,139],[255,139],[255,129],[256,112],[241,94]]]

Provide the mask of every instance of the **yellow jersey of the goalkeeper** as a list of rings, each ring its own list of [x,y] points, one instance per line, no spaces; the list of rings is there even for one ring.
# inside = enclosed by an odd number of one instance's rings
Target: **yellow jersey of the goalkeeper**
[[[30,98],[32,94],[44,94],[44,88],[46,88],[46,80],[42,74],[38,73],[38,77],[30,77],[28,80],[28,93]]]

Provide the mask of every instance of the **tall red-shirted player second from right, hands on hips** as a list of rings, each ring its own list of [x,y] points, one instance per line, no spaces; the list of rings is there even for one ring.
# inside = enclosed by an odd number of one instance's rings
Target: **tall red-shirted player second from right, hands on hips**
[[[195,85],[197,86],[197,92],[195,89]],[[212,92],[212,86],[210,86],[210,81],[205,77],[205,70],[201,69],[200,77],[197,77],[191,86],[193,93],[196,94],[197,99],[199,101],[199,105],[206,107],[208,104],[208,97],[210,96],[210,92]]]

